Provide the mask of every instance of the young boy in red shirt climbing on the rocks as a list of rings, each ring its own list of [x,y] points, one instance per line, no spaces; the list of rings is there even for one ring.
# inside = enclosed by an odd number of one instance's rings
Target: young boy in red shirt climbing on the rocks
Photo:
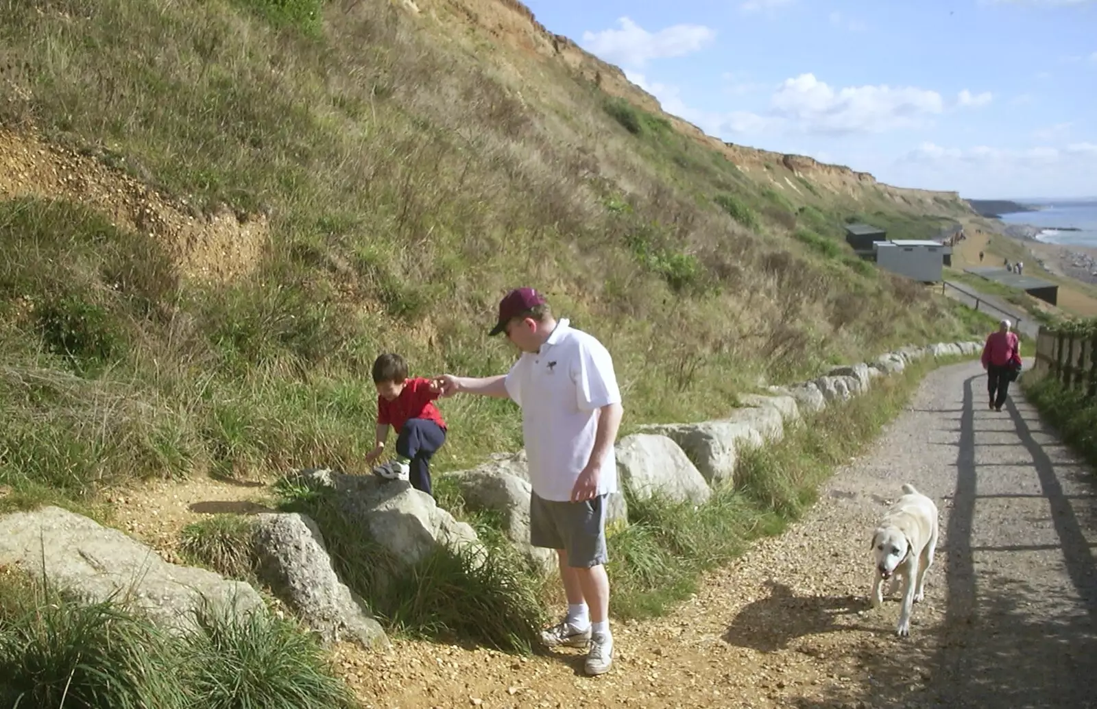
[[[386,479],[407,474],[412,487],[432,495],[430,459],[445,442],[445,420],[433,403],[440,394],[438,383],[421,376],[408,379],[403,357],[382,354],[373,362],[373,384],[377,387],[377,442],[365,462],[372,464],[385,451],[392,426],[396,458],[373,473]]]

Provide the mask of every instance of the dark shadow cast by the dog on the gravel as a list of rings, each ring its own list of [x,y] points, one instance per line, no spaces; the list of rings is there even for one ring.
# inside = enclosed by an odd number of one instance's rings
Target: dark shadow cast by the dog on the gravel
[[[795,596],[784,584],[767,582],[770,595],[746,605],[724,631],[730,645],[760,652],[784,650],[789,642],[804,635],[817,635],[838,630],[856,630],[853,620],[871,606],[857,596]]]

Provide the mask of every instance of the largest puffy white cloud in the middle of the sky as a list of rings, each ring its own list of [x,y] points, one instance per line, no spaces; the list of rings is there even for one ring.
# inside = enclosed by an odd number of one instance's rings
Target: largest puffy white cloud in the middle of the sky
[[[920,127],[945,110],[937,91],[914,87],[834,89],[813,74],[785,79],[773,93],[774,114],[808,133],[880,133]]]

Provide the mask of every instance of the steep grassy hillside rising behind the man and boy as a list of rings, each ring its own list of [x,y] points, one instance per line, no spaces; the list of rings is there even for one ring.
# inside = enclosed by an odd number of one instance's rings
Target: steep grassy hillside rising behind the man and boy
[[[969,331],[840,239],[934,233],[959,201],[737,164],[467,7],[420,7],[4,4],[0,483],[359,470],[373,358],[505,371],[486,330],[520,283],[607,342],[626,427]],[[444,412],[443,465],[520,444],[509,403]]]

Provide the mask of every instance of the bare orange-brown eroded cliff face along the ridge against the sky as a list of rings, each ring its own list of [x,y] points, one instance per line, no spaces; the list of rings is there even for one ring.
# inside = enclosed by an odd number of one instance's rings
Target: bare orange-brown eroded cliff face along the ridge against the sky
[[[397,0],[394,0],[394,2]],[[398,0],[405,7],[415,3],[416,12],[448,21],[456,19],[485,32],[498,44],[518,50],[538,61],[557,61],[570,71],[593,81],[606,93],[624,99],[638,109],[670,122],[674,128],[720,151],[740,170],[755,179],[785,187],[792,177],[803,177],[836,194],[859,196],[867,189],[877,190],[896,204],[928,205],[935,201],[954,202],[968,210],[957,192],[896,188],[879,182],[868,172],[841,165],[828,165],[802,155],[785,155],[724,143],[701,128],[663,111],[658,100],[629,81],[624,72],[579,47],[568,37],[550,32],[533,12],[518,0]],[[521,72],[521,66],[512,66]],[[794,188],[795,189],[795,188]]]

